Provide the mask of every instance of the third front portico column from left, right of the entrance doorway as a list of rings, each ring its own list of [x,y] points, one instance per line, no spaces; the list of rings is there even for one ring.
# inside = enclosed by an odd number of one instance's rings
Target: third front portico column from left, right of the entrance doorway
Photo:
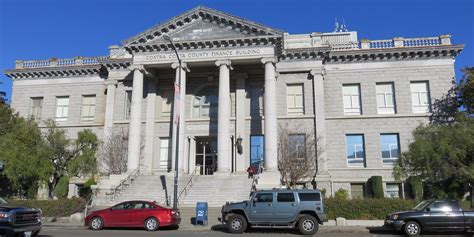
[[[217,117],[217,170],[230,172],[230,60],[218,60],[219,104]]]

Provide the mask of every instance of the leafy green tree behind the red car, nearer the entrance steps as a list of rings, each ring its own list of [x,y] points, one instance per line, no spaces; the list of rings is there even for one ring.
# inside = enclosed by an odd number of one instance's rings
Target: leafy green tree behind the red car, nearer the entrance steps
[[[49,197],[64,176],[80,177],[97,171],[95,154],[98,148],[97,136],[91,130],[77,133],[77,139],[72,141],[66,136],[66,131],[56,126],[52,120],[46,121],[46,131],[43,134],[43,159],[49,163],[46,171]]]

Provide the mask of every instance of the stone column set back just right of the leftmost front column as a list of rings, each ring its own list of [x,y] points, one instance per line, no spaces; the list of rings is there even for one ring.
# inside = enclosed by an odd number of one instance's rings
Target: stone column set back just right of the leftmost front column
[[[145,124],[145,169],[152,171],[154,162],[155,147],[155,105],[156,105],[156,80],[150,78],[148,81],[148,91],[146,96],[146,124]]]

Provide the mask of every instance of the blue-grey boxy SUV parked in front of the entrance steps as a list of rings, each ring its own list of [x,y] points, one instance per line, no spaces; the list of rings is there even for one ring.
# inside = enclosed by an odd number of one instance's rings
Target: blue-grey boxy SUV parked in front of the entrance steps
[[[250,200],[227,203],[222,207],[222,223],[231,233],[243,233],[247,227],[295,228],[313,235],[326,222],[323,198],[319,190],[261,190]]]

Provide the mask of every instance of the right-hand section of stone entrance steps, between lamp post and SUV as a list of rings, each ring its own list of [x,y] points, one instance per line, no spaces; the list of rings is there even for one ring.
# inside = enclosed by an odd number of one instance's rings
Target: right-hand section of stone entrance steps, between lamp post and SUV
[[[196,202],[207,202],[209,207],[221,207],[226,202],[248,200],[252,179],[243,174],[195,176],[193,185],[181,207],[193,207]]]

